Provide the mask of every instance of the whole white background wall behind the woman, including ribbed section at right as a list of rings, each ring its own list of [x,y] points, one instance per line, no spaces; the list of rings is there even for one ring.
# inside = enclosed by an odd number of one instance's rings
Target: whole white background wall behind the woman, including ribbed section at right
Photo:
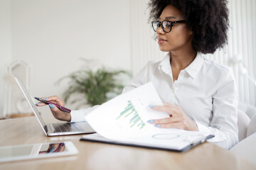
[[[33,96],[61,96],[67,84],[55,82],[85,67],[80,58],[92,60],[95,69],[132,74],[149,60],[161,60],[165,53],[154,40],[147,2],[0,0],[0,117],[6,106],[15,106],[6,98],[11,86],[6,75],[17,62],[28,68],[26,85]],[[229,0],[228,8],[228,46],[208,57],[233,69],[240,102],[256,106],[256,1]]]

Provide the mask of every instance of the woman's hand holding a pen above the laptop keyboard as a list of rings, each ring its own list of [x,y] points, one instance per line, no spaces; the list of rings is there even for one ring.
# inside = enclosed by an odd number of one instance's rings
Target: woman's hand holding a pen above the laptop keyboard
[[[64,107],[64,102],[58,96],[50,96],[48,98],[44,97],[42,99]],[[42,103],[42,102],[38,102],[38,103],[36,103],[36,106],[46,106],[46,104]],[[70,120],[71,120],[70,113],[66,113],[65,111],[60,111],[56,106],[54,106],[52,104],[49,104],[48,106],[50,107],[50,111],[53,113],[54,118],[56,118],[58,120],[70,122]]]

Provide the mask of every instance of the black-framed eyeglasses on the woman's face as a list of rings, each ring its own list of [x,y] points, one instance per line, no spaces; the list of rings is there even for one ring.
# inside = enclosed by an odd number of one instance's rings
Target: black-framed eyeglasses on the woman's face
[[[165,33],[171,32],[171,27],[174,26],[174,23],[186,23],[186,20],[181,21],[153,21],[152,27],[153,30],[156,32],[156,30],[161,26],[161,28],[164,30]]]

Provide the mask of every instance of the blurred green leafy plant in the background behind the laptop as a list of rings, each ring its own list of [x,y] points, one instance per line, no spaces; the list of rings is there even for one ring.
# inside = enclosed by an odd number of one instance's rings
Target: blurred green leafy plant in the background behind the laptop
[[[121,75],[123,74],[123,75]],[[114,96],[122,93],[124,85],[121,77],[131,77],[129,72],[124,70],[110,71],[102,67],[93,71],[92,69],[80,69],[63,79],[68,79],[68,88],[63,93],[63,99],[66,102],[70,101],[74,94],[82,94],[83,98],[73,99],[70,103],[81,105],[100,105],[110,100]]]

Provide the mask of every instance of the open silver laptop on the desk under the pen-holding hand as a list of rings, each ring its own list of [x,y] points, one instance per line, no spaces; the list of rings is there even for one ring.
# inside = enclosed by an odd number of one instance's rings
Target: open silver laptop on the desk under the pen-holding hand
[[[21,79],[15,77],[18,86],[20,87],[23,95],[25,96],[26,100],[31,106],[33,113],[36,115],[38,122],[43,129],[43,132],[47,136],[58,136],[58,135],[76,135],[76,134],[85,134],[85,133],[93,133],[95,130],[91,128],[91,126],[87,122],[79,122],[79,123],[50,123],[46,124],[43,121],[41,113],[39,113],[38,109],[36,108],[36,104],[33,103],[31,96],[28,94],[26,87],[24,86]],[[70,114],[70,113],[67,113]]]

